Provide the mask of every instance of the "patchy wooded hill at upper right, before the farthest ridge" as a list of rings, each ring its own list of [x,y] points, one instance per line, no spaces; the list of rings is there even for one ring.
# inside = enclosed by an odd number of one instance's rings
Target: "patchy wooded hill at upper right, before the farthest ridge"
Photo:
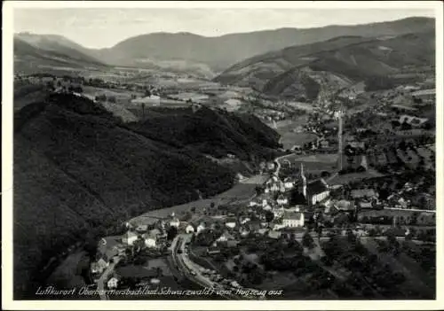
[[[314,100],[320,92],[334,92],[356,82],[377,88],[378,79],[404,66],[433,66],[434,41],[434,31],[384,38],[341,36],[244,60],[214,81],[250,86],[278,97]]]

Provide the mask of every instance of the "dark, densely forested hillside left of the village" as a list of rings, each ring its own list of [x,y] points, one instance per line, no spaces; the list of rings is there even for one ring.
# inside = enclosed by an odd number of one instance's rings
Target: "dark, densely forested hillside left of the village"
[[[272,159],[278,139],[253,116],[205,108],[159,108],[123,124],[83,97],[26,105],[14,115],[15,298],[32,298],[39,271],[67,245],[197,199],[196,190],[208,197],[229,189],[236,172],[208,155]]]

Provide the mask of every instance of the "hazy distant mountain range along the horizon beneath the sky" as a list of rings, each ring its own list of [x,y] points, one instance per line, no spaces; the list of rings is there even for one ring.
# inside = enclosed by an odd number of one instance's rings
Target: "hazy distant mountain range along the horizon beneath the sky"
[[[211,72],[220,73],[244,59],[289,46],[322,42],[337,36],[374,37],[425,32],[434,29],[434,23],[434,19],[429,18],[408,18],[356,26],[281,28],[218,37],[190,33],[155,33],[134,36],[111,48],[99,50],[84,48],[59,35],[18,34],[16,38],[37,48],[39,53],[44,53],[46,58],[42,59],[45,62],[48,57],[53,58],[51,53],[59,53],[69,58],[65,58],[66,61],[75,59],[75,64],[79,60],[97,64],[99,59],[99,62],[108,65],[157,64],[168,68],[180,66],[181,70],[186,70],[187,67],[198,68],[211,75]],[[18,43],[15,47],[15,52],[20,58],[28,54],[29,48],[22,51],[23,48],[23,43]]]

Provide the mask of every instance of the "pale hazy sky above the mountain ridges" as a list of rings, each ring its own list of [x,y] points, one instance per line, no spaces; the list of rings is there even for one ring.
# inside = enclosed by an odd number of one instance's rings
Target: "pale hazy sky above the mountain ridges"
[[[323,27],[433,17],[422,9],[15,9],[14,32],[64,35],[90,48],[154,32],[217,36],[281,27]]]

